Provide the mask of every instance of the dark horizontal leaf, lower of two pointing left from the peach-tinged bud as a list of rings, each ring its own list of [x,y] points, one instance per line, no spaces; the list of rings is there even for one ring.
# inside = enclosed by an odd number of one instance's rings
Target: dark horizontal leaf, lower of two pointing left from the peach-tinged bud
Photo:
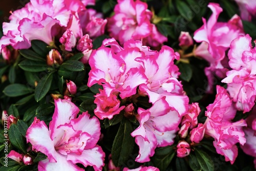
[[[30,72],[41,72],[46,71],[49,66],[47,66],[46,62],[44,61],[33,61],[25,59],[18,65],[24,71]]]

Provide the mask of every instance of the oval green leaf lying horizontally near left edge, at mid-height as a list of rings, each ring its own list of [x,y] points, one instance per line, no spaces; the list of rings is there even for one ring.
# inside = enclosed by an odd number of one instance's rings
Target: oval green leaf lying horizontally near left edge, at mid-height
[[[9,97],[17,97],[25,94],[29,94],[30,89],[24,84],[10,84],[4,89],[4,94]]]

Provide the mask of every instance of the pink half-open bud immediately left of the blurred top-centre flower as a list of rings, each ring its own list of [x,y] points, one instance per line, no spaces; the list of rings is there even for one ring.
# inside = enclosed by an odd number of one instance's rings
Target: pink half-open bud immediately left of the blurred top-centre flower
[[[92,38],[98,37],[98,36],[104,34],[106,22],[107,22],[106,19],[92,16],[91,21],[86,26],[86,32]]]

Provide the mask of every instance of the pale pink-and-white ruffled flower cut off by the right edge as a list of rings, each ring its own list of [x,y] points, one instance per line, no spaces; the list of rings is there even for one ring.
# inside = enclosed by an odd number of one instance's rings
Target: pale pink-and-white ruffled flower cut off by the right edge
[[[256,98],[256,48],[251,47],[251,37],[247,34],[234,39],[228,57],[233,70],[227,72],[222,82],[227,83],[227,91],[236,102],[236,108],[244,113],[249,112]]]

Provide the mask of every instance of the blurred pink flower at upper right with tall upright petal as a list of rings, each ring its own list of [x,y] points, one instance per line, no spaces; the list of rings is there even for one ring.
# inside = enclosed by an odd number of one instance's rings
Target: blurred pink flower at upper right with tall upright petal
[[[227,23],[217,22],[222,8],[215,3],[209,3],[208,7],[211,9],[212,15],[207,23],[203,18],[203,26],[194,33],[194,39],[197,42],[202,42],[194,53],[210,63],[210,66],[205,68],[205,74],[209,82],[207,91],[212,92],[213,85],[210,82],[214,75],[224,78],[228,71],[228,66],[224,61],[225,51],[234,38],[244,35],[244,31],[238,15],[234,15]]]

